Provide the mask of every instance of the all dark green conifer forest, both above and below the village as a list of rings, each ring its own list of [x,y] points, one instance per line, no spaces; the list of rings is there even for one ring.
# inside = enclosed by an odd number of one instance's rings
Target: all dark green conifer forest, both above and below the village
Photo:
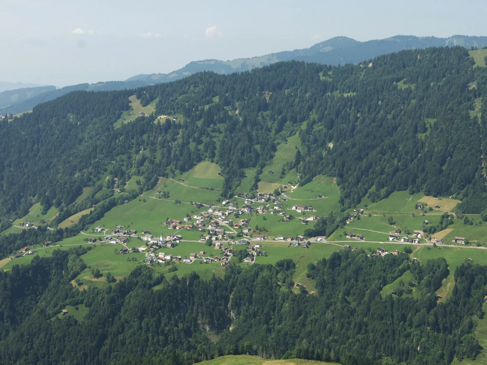
[[[0,236],[0,259],[34,242],[75,236],[160,176],[203,160],[221,167],[221,195],[231,198],[244,169],[262,170],[296,133],[302,147],[283,169],[295,168],[301,186],[318,175],[336,178],[342,211],[365,196],[380,201],[400,190],[451,196],[462,201],[458,211],[487,219],[487,104],[479,103],[487,96],[487,69],[473,65],[464,48],[428,48],[358,65],[290,61],[230,75],[197,73],[40,104],[0,121],[0,231],[37,202],[59,214],[52,229]],[[133,94],[143,106],[156,100],[154,113],[115,128]],[[182,117],[158,118],[176,114]],[[107,169],[116,185],[100,180]],[[131,175],[143,183],[115,195]],[[77,200],[88,186],[92,192]],[[76,224],[57,228],[91,207]],[[332,212],[314,229],[330,235],[342,220]],[[347,365],[385,358],[450,364],[480,351],[472,316],[482,316],[487,267],[471,262],[449,269],[444,258],[420,264],[406,254],[341,250],[308,266],[313,294],[291,290],[290,259],[232,263],[223,279],[208,281],[195,273],[168,280],[137,267],[106,289],[80,291],[70,281],[86,268],[80,256],[87,250],[57,250],[0,271],[1,364],[179,365],[247,353]],[[380,294],[408,270],[419,298]],[[450,270],[452,294],[437,302]],[[86,307],[83,321],[58,319],[67,305]]]

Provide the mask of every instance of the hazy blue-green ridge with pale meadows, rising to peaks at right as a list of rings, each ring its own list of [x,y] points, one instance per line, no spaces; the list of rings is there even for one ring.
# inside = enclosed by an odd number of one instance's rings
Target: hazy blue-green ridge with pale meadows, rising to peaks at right
[[[233,73],[249,71],[256,67],[270,65],[279,61],[299,60],[317,62],[328,65],[358,63],[372,59],[378,55],[398,52],[405,49],[423,49],[427,47],[462,46],[483,48],[487,45],[487,37],[470,37],[456,35],[449,38],[394,36],[385,39],[374,39],[360,42],[348,37],[334,37],[314,46],[293,51],[283,51],[251,58],[237,58],[231,61],[206,59],[189,62],[185,67],[172,73],[139,74],[126,81],[144,81],[148,84],[169,82],[186,77],[190,74],[213,71],[215,73]]]

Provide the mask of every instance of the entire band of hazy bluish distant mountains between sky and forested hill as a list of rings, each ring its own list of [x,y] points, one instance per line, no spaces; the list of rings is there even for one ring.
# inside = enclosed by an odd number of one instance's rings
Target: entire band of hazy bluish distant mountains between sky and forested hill
[[[215,73],[233,73],[249,71],[257,67],[270,65],[279,61],[298,60],[317,62],[329,65],[358,63],[372,59],[377,55],[398,52],[405,49],[422,49],[439,46],[472,46],[483,48],[487,46],[487,37],[452,36],[449,38],[394,36],[385,39],[375,39],[360,42],[348,37],[334,37],[317,43],[309,48],[283,51],[251,58],[238,58],[231,61],[207,59],[192,61],[185,67],[172,73],[152,73],[132,76],[125,81],[107,81],[96,84],[79,84],[56,89],[48,86],[46,90],[35,84],[0,82],[0,114],[20,113],[32,110],[39,103],[53,100],[61,95],[75,90],[109,91],[134,89],[151,84],[169,82],[186,77],[190,74],[213,71]],[[31,86],[35,86],[29,90]],[[11,88],[11,89],[7,89]],[[20,89],[21,88],[21,89]],[[19,89],[13,92],[12,90]],[[9,91],[4,91],[9,90]]]

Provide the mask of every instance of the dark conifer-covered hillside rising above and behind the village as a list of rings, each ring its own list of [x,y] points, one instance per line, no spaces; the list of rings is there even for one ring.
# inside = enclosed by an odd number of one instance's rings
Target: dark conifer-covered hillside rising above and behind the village
[[[245,167],[265,166],[278,143],[299,133],[302,149],[283,169],[295,168],[301,185],[336,177],[345,207],[408,190],[452,195],[465,200],[465,213],[480,213],[486,104],[471,110],[485,97],[487,72],[472,66],[466,49],[447,47],[356,66],[291,61],[199,73],[137,89],[143,106],[157,99],[156,111],[121,128],[113,123],[133,91],[72,92],[0,124],[0,211],[21,217],[35,201],[68,208],[106,168],[117,186],[143,175],[148,189],[202,159],[220,165],[230,197]],[[183,117],[156,119],[164,114]]]

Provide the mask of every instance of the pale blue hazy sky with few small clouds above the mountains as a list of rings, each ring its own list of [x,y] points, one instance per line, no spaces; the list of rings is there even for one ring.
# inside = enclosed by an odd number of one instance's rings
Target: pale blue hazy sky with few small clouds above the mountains
[[[0,0],[0,81],[56,86],[168,73],[190,61],[335,36],[487,36],[487,1]]]

